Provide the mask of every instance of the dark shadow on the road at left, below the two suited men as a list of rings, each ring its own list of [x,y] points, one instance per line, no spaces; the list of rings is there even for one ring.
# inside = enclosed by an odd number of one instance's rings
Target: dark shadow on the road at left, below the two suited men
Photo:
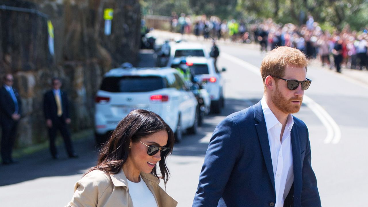
[[[81,174],[96,165],[98,149],[93,137],[74,142],[74,148],[79,158],[68,158],[64,145],[61,145],[57,160],[51,158],[47,149],[22,157],[17,164],[0,165],[0,186],[42,177]]]

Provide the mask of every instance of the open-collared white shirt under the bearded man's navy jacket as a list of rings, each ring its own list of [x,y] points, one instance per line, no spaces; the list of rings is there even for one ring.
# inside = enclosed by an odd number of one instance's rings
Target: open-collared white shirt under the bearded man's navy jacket
[[[291,185],[294,182],[293,154],[291,150],[290,131],[294,124],[291,114],[287,117],[286,127],[280,142],[282,124],[268,107],[265,98],[261,100],[263,115],[265,116],[268,141],[273,167],[273,177],[275,178],[276,203],[275,207],[283,207],[284,201],[289,194]]]

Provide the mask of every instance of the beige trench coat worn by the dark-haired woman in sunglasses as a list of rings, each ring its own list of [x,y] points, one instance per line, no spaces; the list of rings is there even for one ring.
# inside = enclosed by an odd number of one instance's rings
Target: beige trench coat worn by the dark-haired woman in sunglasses
[[[176,207],[177,201],[167,194],[152,174],[141,173],[158,207]],[[115,175],[93,170],[81,178],[74,186],[74,195],[66,207],[133,207],[129,195],[127,178],[121,170]]]

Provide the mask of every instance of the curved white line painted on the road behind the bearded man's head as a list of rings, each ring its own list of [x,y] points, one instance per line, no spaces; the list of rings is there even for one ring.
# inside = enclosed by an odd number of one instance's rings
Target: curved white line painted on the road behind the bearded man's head
[[[244,67],[245,69],[250,70],[251,72],[255,73],[258,76],[261,76],[261,73],[259,71],[259,68],[245,62],[244,60],[239,59],[238,57],[234,57],[232,55],[229,55],[227,53],[222,52],[221,57],[224,57],[225,59],[230,60],[231,62],[237,63],[239,66]],[[322,108],[321,105],[313,101],[311,98],[309,98],[307,95],[304,95],[303,103],[308,106],[309,109],[312,110],[313,113],[318,117],[319,120],[321,120],[322,124],[327,129],[327,136],[325,140],[323,140],[324,143],[329,144],[337,144],[339,143],[341,139],[341,130],[339,125],[333,120],[333,118],[329,115],[328,112],[326,112],[325,109]],[[204,137],[205,138],[205,137]],[[203,138],[203,139],[204,139]]]

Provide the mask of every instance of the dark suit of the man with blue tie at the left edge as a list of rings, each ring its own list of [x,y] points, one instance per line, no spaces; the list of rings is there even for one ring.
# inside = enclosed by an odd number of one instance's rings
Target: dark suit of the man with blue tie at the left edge
[[[15,98],[18,102],[18,114],[21,114],[22,103],[17,90],[13,88]],[[1,136],[1,158],[4,163],[12,162],[11,153],[17,134],[18,121],[14,120],[11,115],[15,112],[15,103],[10,93],[4,86],[0,88],[0,123],[3,135]]]

